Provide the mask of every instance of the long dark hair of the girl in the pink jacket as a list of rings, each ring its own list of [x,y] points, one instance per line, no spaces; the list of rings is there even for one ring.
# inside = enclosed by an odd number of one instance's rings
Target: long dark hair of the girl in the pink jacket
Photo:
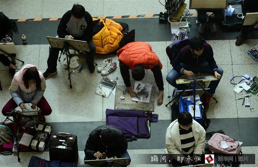
[[[23,74],[23,81],[26,89],[29,89],[29,80],[36,80],[36,88],[37,90],[41,90],[41,79],[39,77],[38,70],[34,68],[29,68],[28,70],[25,71]]]

